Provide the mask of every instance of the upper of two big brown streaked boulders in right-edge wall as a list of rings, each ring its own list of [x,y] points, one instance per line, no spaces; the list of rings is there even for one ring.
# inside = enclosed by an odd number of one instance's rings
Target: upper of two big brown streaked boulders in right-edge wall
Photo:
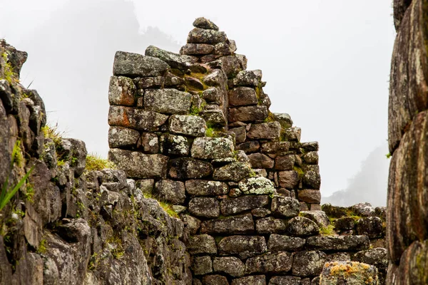
[[[407,2],[408,3],[408,2]],[[426,1],[412,1],[392,51],[389,78],[388,144],[394,153],[414,116],[428,108]]]

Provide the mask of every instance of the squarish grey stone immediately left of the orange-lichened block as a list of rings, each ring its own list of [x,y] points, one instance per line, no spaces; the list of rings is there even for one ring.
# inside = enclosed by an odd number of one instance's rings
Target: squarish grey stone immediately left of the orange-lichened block
[[[327,259],[324,252],[297,252],[293,256],[292,274],[296,276],[315,276],[321,273]]]

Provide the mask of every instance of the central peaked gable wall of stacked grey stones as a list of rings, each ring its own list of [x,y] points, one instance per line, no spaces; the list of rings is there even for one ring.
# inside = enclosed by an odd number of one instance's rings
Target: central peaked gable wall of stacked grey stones
[[[290,116],[270,113],[262,73],[245,70],[234,41],[207,19],[193,25],[180,54],[116,53],[109,159],[175,205],[193,284],[319,284],[335,252],[369,249],[370,239],[320,236],[330,221],[317,142],[300,143]]]

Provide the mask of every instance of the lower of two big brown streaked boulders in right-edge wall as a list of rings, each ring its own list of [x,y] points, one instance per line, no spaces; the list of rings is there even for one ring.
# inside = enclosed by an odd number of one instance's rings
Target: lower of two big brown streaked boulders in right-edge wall
[[[389,166],[387,240],[394,262],[412,242],[428,239],[427,132],[424,111],[409,125]]]

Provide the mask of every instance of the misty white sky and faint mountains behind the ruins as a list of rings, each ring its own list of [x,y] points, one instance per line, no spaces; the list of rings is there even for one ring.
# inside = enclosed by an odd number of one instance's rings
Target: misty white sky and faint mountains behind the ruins
[[[392,8],[352,2],[0,0],[0,38],[29,53],[21,82],[44,98],[50,124],[106,157],[114,53],[178,52],[205,16],[263,71],[270,110],[320,142],[322,203],[383,206]]]

